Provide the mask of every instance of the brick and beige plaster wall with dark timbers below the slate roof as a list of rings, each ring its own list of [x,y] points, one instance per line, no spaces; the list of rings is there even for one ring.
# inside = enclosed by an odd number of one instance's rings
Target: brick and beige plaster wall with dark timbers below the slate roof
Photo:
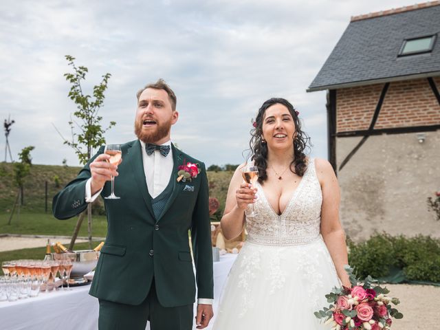
[[[440,77],[433,78],[440,90]],[[336,91],[336,133],[369,129],[384,84]],[[440,104],[426,78],[390,83],[374,129],[440,124]],[[426,199],[440,190],[440,130],[371,135],[338,171],[341,220],[356,241],[373,232],[430,234],[440,222]],[[336,165],[362,136],[336,137]]]

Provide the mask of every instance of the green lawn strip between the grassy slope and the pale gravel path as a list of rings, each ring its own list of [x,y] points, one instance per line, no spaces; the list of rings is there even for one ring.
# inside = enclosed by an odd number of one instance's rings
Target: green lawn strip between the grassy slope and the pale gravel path
[[[0,213],[1,234],[72,236],[78,217],[58,220],[52,213],[22,212],[20,219],[17,214],[14,214],[10,225],[8,225],[8,219],[9,213]],[[92,219],[92,236],[105,237],[107,234],[106,217],[94,215]],[[83,220],[78,236],[88,236],[87,217]]]

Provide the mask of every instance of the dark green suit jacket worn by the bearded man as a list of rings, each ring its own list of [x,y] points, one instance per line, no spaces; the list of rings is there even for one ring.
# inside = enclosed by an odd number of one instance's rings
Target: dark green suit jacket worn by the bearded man
[[[121,146],[122,163],[115,178],[115,195],[104,199],[107,238],[102,246],[90,294],[116,303],[138,305],[155,281],[157,298],[164,307],[189,305],[197,296],[213,298],[212,248],[208,207],[208,179],[203,163],[173,148],[173,193],[164,212],[155,219],[148,194],[139,140]],[[85,184],[91,177],[89,160],[78,177],[58,192],[54,216],[69,219],[87,208]],[[192,181],[177,182],[177,166],[199,163],[201,173]],[[107,182],[101,195],[110,195]],[[188,230],[197,279],[193,272]]]

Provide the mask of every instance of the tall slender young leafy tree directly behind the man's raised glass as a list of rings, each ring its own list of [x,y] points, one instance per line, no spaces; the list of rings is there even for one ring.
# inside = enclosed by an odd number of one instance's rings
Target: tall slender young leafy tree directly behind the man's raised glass
[[[115,126],[115,122],[110,122],[107,128],[101,126],[102,117],[98,115],[99,110],[104,104],[104,91],[107,89],[107,83],[111,74],[107,73],[102,76],[102,81],[99,85],[94,86],[93,98],[92,96],[83,92],[81,83],[85,80],[85,76],[89,69],[83,66],[76,66],[75,58],[70,55],[65,56],[68,65],[73,69],[73,72],[65,74],[66,80],[72,85],[69,91],[69,98],[76,104],[77,110],[74,112],[75,119],[69,121],[69,126],[72,130],[72,140],[67,140],[61,133],[64,144],[71,146],[81,164],[86,164],[93,155],[94,149],[102,144],[105,144],[104,133]],[[87,206],[89,245],[91,248],[91,203]],[[80,230],[81,223],[85,217],[85,212],[80,214],[72,240],[69,248],[72,250],[76,241],[76,236]]]

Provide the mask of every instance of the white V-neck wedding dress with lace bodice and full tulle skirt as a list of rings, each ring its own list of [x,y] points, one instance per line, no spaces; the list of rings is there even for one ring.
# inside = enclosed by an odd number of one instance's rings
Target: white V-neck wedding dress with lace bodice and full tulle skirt
[[[314,159],[278,215],[256,184],[255,217],[223,287],[214,330],[330,329],[314,316],[340,285],[320,236],[322,192]],[[250,207],[250,206],[249,206]],[[250,208],[249,208],[250,210]]]

